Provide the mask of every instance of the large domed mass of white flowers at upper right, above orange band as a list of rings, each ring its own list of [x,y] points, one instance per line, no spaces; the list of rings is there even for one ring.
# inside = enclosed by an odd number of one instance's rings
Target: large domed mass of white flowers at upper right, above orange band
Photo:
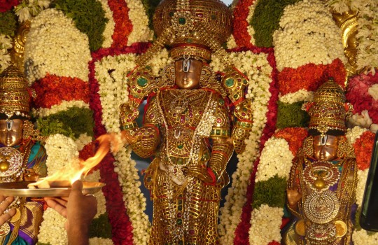
[[[320,1],[304,0],[286,6],[279,25],[273,34],[279,71],[309,63],[330,64],[337,58],[346,62],[341,31]]]

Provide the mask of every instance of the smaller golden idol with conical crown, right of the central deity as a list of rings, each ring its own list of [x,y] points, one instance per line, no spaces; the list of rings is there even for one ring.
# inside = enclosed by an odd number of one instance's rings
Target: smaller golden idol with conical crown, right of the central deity
[[[332,79],[304,104],[310,136],[293,160],[288,180],[288,209],[295,223],[285,244],[350,244],[356,202],[357,168],[344,136],[348,106]]]

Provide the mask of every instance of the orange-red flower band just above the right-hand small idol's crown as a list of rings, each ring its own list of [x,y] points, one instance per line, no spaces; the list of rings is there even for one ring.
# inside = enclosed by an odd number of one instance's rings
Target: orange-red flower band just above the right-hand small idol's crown
[[[328,78],[344,87],[346,71],[340,59],[335,59],[331,64],[305,64],[297,69],[285,67],[279,73],[279,92],[281,95],[297,92],[304,89],[315,91]]]

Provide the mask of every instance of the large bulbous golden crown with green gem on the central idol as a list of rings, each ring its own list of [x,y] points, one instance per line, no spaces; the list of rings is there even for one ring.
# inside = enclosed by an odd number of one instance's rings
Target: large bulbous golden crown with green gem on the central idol
[[[153,26],[158,39],[137,64],[146,64],[155,52],[169,45],[174,59],[209,60],[211,52],[225,59],[222,44],[232,33],[232,13],[219,0],[162,0],[155,9]]]

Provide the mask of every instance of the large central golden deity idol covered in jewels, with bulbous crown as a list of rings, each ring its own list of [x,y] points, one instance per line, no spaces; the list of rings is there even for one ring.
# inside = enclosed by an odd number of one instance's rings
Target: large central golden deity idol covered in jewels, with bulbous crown
[[[234,149],[244,151],[252,125],[244,97],[248,81],[235,69],[217,80],[208,64],[212,53],[227,56],[221,44],[231,33],[232,15],[217,0],[165,0],[153,20],[159,37],[130,74],[129,102],[120,114],[132,150],[154,157],[144,177],[153,199],[149,244],[219,244],[221,188],[229,181],[225,168]],[[155,78],[146,61],[165,44],[174,64]],[[145,97],[144,125],[138,127]]]

